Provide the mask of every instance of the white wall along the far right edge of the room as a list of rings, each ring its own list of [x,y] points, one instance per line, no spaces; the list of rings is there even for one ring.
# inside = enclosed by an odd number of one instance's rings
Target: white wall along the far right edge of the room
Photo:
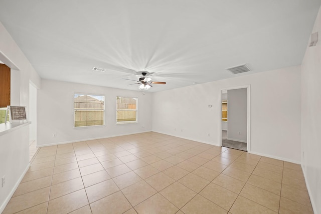
[[[313,30],[319,41],[302,61],[302,169],[314,213],[321,213],[321,10]],[[304,155],[303,155],[304,154]]]

